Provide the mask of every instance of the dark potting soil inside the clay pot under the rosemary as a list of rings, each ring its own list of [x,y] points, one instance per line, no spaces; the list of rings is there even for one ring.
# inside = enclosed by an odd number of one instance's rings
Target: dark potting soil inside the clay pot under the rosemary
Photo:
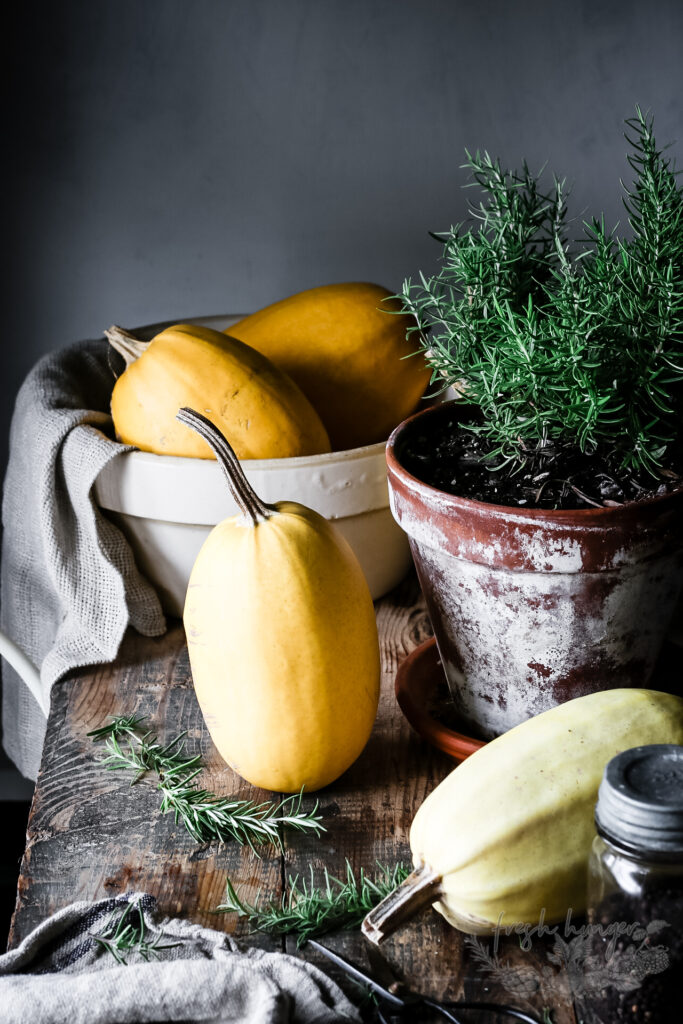
[[[440,412],[440,411],[439,411]],[[460,412],[460,410],[458,411]],[[475,422],[474,417],[470,422]],[[586,509],[624,505],[683,486],[683,453],[670,454],[671,469],[658,479],[615,468],[608,456],[588,455],[577,445],[547,445],[530,452],[519,469],[486,459],[487,444],[444,409],[419,420],[400,451],[404,468],[450,495],[493,505],[539,509]]]

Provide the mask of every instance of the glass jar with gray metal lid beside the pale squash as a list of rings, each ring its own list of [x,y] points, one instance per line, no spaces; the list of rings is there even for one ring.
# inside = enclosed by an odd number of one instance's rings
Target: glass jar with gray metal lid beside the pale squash
[[[683,1007],[683,746],[613,758],[595,823],[579,1020],[672,1024]]]

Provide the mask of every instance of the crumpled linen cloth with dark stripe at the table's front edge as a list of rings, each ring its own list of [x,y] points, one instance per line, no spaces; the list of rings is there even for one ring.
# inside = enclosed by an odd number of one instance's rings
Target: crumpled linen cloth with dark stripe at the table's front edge
[[[119,965],[92,935],[105,931],[128,902],[137,904],[128,920],[139,913],[147,942],[158,946],[148,961],[125,953],[126,965]],[[0,956],[0,1007],[4,1024],[360,1020],[312,965],[284,953],[241,951],[223,932],[161,919],[154,898],[142,893],[73,903],[43,922]]]

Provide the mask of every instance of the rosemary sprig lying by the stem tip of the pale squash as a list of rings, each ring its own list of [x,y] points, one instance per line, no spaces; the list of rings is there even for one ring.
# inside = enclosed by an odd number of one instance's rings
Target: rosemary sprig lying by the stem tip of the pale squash
[[[227,879],[225,902],[216,907],[216,911],[246,918],[254,932],[296,935],[297,946],[300,947],[308,939],[328,932],[358,927],[369,910],[393,892],[409,874],[410,868],[402,863],[393,866],[378,863],[373,878],[362,868],[356,877],[347,860],[345,879],[335,878],[326,868],[323,884],[316,886],[311,867],[309,881],[299,880],[298,876],[290,878],[282,901],[270,901],[261,906],[241,899]]]

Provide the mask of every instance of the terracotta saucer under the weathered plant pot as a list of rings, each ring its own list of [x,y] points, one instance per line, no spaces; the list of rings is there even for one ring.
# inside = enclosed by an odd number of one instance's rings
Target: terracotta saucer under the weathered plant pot
[[[484,745],[483,739],[454,728],[455,711],[433,637],[401,663],[395,688],[398,707],[415,731],[454,761],[464,761]]]

